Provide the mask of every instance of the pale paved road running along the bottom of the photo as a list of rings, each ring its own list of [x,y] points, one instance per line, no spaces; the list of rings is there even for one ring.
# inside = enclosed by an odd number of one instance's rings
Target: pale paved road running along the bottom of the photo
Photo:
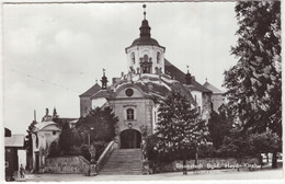
[[[186,181],[186,180],[281,180],[284,177],[282,169],[278,170],[259,170],[240,171],[220,170],[220,171],[200,171],[198,173],[189,172],[183,175],[182,172],[162,173],[152,175],[96,175],[84,176],[82,174],[35,174],[33,179],[26,179],[26,182],[76,182],[76,181]]]

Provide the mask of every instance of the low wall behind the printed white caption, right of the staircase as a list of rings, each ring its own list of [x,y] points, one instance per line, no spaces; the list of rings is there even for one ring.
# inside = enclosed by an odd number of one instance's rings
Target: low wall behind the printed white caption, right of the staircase
[[[204,158],[200,159],[198,163],[195,165],[195,160],[187,160],[186,168],[189,171],[191,170],[212,170],[212,169],[248,169],[248,168],[260,168],[260,159],[259,158],[244,158],[238,161],[235,158]],[[153,170],[152,172],[173,172],[173,171],[182,171],[183,162],[182,161],[173,161],[173,162],[157,162],[156,164],[151,164],[150,168]]]

